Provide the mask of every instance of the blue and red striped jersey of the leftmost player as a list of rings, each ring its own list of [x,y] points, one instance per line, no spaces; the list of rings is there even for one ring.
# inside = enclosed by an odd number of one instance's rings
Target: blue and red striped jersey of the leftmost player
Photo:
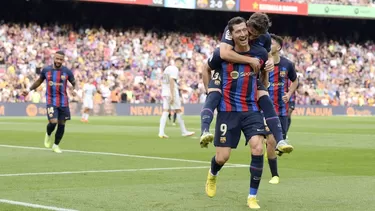
[[[67,107],[69,99],[66,89],[68,80],[74,78],[73,73],[65,66],[54,69],[50,65],[43,68],[41,76],[46,80],[47,105]]]

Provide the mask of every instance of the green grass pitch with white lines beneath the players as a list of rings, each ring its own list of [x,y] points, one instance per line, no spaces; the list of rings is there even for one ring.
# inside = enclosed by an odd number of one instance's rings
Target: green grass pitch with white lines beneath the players
[[[233,165],[249,164],[249,148],[242,140],[208,198],[214,147],[200,148],[198,116],[184,118],[195,137],[167,125],[170,138],[159,139],[159,117],[92,117],[89,124],[75,117],[63,154],[43,149],[45,118],[1,118],[0,199],[80,211],[249,210],[249,169]],[[280,184],[268,184],[265,163],[261,210],[375,209],[375,118],[294,117],[289,139],[295,151],[279,158]],[[0,210],[42,209],[0,203]]]

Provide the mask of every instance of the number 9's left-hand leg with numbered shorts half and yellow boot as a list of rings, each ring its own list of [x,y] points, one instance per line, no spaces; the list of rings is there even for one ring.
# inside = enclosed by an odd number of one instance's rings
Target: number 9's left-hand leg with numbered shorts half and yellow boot
[[[237,112],[219,112],[216,121],[215,156],[211,159],[211,168],[206,180],[206,194],[209,197],[216,195],[217,176],[224,164],[229,160],[231,150],[236,148],[241,137]]]

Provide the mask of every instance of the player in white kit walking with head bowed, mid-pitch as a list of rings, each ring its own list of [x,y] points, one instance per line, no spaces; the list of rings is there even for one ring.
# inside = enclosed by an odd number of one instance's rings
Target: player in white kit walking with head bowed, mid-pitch
[[[177,122],[180,124],[182,136],[192,136],[195,133],[186,130],[184,120],[181,117],[181,98],[178,91],[178,73],[184,61],[181,58],[175,60],[175,66],[171,65],[165,68],[162,77],[163,113],[160,118],[159,137],[168,138],[165,135],[164,128],[167,123],[169,110],[176,113]]]

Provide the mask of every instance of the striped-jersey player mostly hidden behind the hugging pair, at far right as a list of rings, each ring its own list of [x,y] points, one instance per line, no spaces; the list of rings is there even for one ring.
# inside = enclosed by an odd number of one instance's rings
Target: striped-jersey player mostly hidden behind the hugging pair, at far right
[[[272,38],[272,56],[275,62],[274,71],[269,73],[270,86],[268,91],[274,104],[275,110],[281,122],[283,138],[286,139],[288,130],[288,111],[289,100],[298,86],[297,73],[294,64],[287,58],[280,56],[280,50],[283,46],[283,39],[277,35],[271,34]],[[289,86],[289,82],[291,84]],[[275,151],[276,141],[273,135],[267,137],[267,156],[268,164],[271,170],[271,184],[278,184],[280,181],[277,170],[277,155]],[[282,155],[282,152],[278,152]]]

